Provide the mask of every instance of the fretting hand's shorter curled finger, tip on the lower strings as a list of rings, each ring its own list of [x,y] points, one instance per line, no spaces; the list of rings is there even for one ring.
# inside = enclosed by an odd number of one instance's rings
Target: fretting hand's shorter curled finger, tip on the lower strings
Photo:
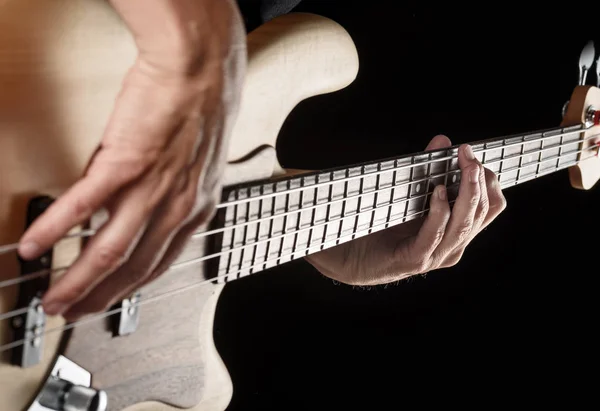
[[[434,188],[430,201],[430,209],[421,229],[408,247],[400,248],[402,261],[412,263],[415,273],[427,271],[431,265],[431,256],[444,238],[446,226],[450,219],[446,187],[438,185]]]

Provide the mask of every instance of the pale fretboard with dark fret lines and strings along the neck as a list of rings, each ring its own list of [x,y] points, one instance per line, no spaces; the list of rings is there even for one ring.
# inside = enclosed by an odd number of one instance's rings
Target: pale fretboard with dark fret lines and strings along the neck
[[[577,164],[582,131],[556,128],[471,146],[506,188]],[[453,146],[228,187],[206,259],[218,261],[215,274],[227,282],[422,217],[436,185],[456,198],[457,155]]]

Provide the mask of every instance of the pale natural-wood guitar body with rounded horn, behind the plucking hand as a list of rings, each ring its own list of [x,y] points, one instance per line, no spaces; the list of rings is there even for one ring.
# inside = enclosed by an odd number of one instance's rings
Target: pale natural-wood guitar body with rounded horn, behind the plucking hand
[[[274,147],[289,112],[305,98],[347,86],[358,70],[348,34],[307,14],[254,31],[248,52],[225,185],[285,173]],[[135,55],[105,1],[0,2],[0,245],[18,241],[32,197],[56,197],[82,175]],[[190,241],[179,260],[201,256],[204,246]],[[53,267],[68,265],[79,248],[76,239],[61,242]],[[0,281],[18,276],[16,255],[1,255]],[[142,298],[204,278],[201,267],[169,271],[144,287]],[[111,411],[224,410],[232,384],[212,336],[222,287],[209,283],[140,306],[139,325],[127,336],[114,337],[109,319],[50,333],[43,360],[29,368],[10,365],[10,352],[2,353],[2,410],[27,410],[59,354],[91,373]],[[0,314],[16,308],[17,293],[17,286],[0,289]],[[63,324],[49,318],[46,330]],[[0,325],[0,345],[9,343],[9,321]]]

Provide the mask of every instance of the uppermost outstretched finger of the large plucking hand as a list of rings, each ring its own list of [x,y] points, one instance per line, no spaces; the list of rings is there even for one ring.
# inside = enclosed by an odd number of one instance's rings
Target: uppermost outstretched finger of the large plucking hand
[[[113,158],[105,160],[110,157]],[[133,161],[127,153],[100,150],[86,176],[59,197],[23,234],[19,255],[26,260],[42,255],[73,227],[86,222],[142,171],[140,162]]]

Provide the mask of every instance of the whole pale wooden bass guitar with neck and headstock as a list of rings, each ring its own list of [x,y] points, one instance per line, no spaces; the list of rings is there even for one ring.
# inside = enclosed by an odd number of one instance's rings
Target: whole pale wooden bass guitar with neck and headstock
[[[289,14],[247,37],[247,77],[210,225],[119,306],[73,323],[46,316],[41,295],[93,224],[35,261],[19,261],[13,245],[83,173],[136,49],[102,1],[3,1],[0,28],[2,411],[224,410],[233,387],[212,327],[226,283],[420,218],[437,184],[456,198],[456,146],[311,172],[278,164],[276,139],[292,109],[348,86],[359,68],[340,25]],[[584,78],[593,58],[588,49]],[[563,169],[575,188],[594,186],[600,89],[583,83],[557,127],[472,143],[503,188]]]

